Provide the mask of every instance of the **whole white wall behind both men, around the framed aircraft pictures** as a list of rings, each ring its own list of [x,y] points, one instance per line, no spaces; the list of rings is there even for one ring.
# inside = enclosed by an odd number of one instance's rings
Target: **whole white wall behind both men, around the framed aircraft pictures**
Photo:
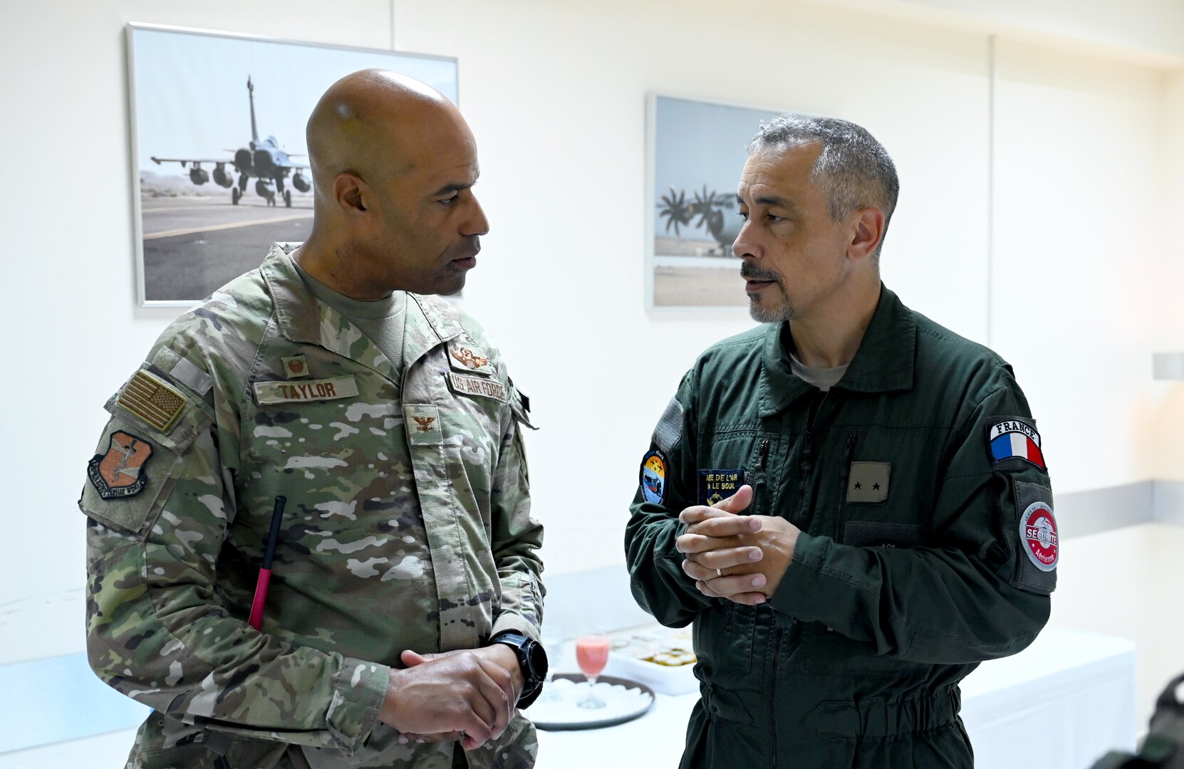
[[[76,500],[102,403],[175,315],[135,306],[133,20],[372,47],[392,35],[387,0],[0,5],[0,319],[19,362],[0,384],[0,603],[83,580]],[[703,347],[751,325],[643,310],[650,91],[867,125],[902,179],[886,280],[1015,363],[1056,490],[1184,479],[1184,392],[1150,380],[1152,350],[1184,349],[1184,76],[999,40],[992,167],[991,58],[973,28],[748,0],[398,0],[393,21],[400,50],[459,58],[493,222],[464,303],[542,427],[528,448],[552,574],[623,562],[657,414]],[[1082,550],[1095,570],[1067,556],[1063,623],[1092,616],[1090,580],[1147,589],[1138,569],[1112,574],[1099,542]]]

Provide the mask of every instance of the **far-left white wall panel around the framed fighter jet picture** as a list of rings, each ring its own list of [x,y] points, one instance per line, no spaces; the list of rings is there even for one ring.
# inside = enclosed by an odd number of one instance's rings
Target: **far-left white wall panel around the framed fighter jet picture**
[[[124,25],[390,47],[390,20],[386,0],[0,5],[0,452],[19,479],[2,503],[0,603],[84,580],[77,500],[103,402],[179,315],[136,308]]]

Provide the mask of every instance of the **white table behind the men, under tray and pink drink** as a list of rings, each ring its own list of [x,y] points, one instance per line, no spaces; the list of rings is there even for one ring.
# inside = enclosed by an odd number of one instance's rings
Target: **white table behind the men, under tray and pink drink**
[[[556,671],[574,670],[567,650]],[[697,699],[658,694],[649,713],[625,724],[540,730],[538,769],[674,767]],[[1134,641],[1055,627],[963,683],[978,769],[1086,769],[1107,750],[1133,750],[1134,703]]]

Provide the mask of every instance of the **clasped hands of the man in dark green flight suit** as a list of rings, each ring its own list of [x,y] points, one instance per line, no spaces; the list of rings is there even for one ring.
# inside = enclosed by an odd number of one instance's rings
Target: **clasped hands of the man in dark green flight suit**
[[[675,542],[687,556],[682,570],[703,595],[764,603],[790,567],[800,530],[776,516],[738,515],[751,503],[746,485],[712,508],[695,505],[678,515],[690,524]]]

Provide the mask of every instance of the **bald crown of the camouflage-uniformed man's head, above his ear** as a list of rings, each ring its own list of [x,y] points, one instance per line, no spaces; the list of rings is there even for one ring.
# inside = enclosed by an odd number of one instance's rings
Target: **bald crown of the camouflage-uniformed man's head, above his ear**
[[[385,70],[347,75],[308,119],[313,181],[317,190],[332,189],[342,173],[388,181],[414,167],[425,135],[461,127],[468,131],[456,106],[430,85]]]

